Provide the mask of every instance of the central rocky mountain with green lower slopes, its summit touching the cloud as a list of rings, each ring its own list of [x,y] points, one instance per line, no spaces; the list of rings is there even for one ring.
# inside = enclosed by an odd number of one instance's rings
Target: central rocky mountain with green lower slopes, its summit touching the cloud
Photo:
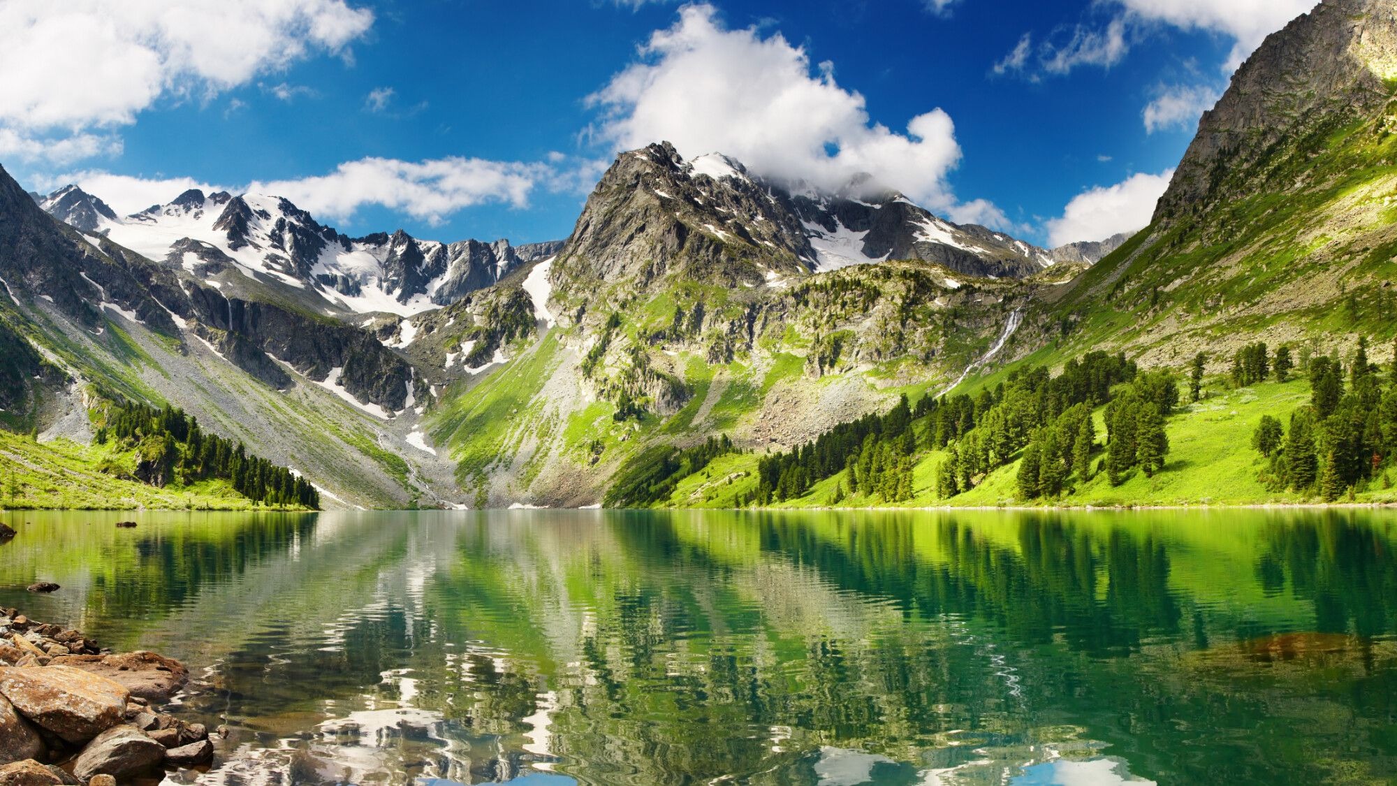
[[[461,487],[588,505],[666,445],[795,445],[954,383],[1060,284],[1044,249],[870,190],[622,154],[556,256],[414,320],[411,357],[471,373],[429,413]]]

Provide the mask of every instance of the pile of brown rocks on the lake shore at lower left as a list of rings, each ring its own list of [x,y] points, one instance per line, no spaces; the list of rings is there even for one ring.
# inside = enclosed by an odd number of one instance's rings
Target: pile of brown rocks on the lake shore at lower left
[[[0,786],[115,786],[208,765],[208,730],[159,710],[187,683],[175,659],[113,653],[0,608]]]

